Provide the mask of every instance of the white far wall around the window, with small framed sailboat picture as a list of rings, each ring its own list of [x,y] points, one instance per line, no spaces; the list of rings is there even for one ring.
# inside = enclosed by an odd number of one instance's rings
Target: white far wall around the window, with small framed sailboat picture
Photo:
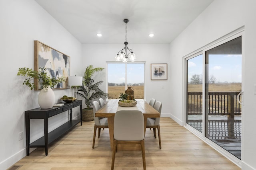
[[[106,68],[106,61],[115,61],[116,54],[123,48],[123,44],[83,44],[82,56],[84,69],[89,64],[94,67]],[[170,113],[170,46],[168,44],[129,44],[136,55],[136,61],[146,61],[145,64],[145,92],[147,102],[151,98],[155,98],[162,102],[162,115]],[[151,80],[150,64],[151,63],[167,63],[168,78],[167,80]],[[104,73],[105,74],[105,73]],[[181,74],[181,73],[180,73]],[[106,90],[106,81],[102,90]],[[136,93],[136,92],[134,92]]]

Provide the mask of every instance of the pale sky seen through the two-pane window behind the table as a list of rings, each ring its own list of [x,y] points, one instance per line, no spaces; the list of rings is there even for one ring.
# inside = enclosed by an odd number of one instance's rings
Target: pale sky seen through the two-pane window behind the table
[[[108,63],[108,82],[125,82],[127,64],[127,83],[144,82],[144,63]]]

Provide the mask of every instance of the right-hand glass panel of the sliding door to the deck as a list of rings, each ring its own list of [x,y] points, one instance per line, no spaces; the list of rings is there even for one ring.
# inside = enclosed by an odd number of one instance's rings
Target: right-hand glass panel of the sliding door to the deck
[[[205,52],[205,137],[241,159],[242,37]]]

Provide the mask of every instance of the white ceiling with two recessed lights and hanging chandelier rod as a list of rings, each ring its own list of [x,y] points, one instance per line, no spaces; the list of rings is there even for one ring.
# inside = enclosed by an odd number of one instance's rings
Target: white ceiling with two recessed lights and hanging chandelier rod
[[[35,0],[81,43],[172,42],[213,0]],[[97,37],[101,33],[102,37]],[[149,37],[150,33],[154,37]]]

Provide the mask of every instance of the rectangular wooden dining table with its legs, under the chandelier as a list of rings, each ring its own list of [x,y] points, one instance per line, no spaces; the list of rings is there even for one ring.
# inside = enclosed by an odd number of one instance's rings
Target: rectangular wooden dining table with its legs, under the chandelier
[[[148,118],[160,117],[160,113],[150,106],[144,99],[135,99],[137,104],[132,107],[119,106],[119,99],[111,99],[95,113],[95,117],[107,117],[108,129],[110,137],[110,147],[113,149],[114,137],[114,117],[116,111],[119,110],[140,110],[144,116],[144,132],[146,132],[146,124]],[[131,125],[132,126],[132,125]],[[118,150],[140,150],[140,145],[118,145]]]

